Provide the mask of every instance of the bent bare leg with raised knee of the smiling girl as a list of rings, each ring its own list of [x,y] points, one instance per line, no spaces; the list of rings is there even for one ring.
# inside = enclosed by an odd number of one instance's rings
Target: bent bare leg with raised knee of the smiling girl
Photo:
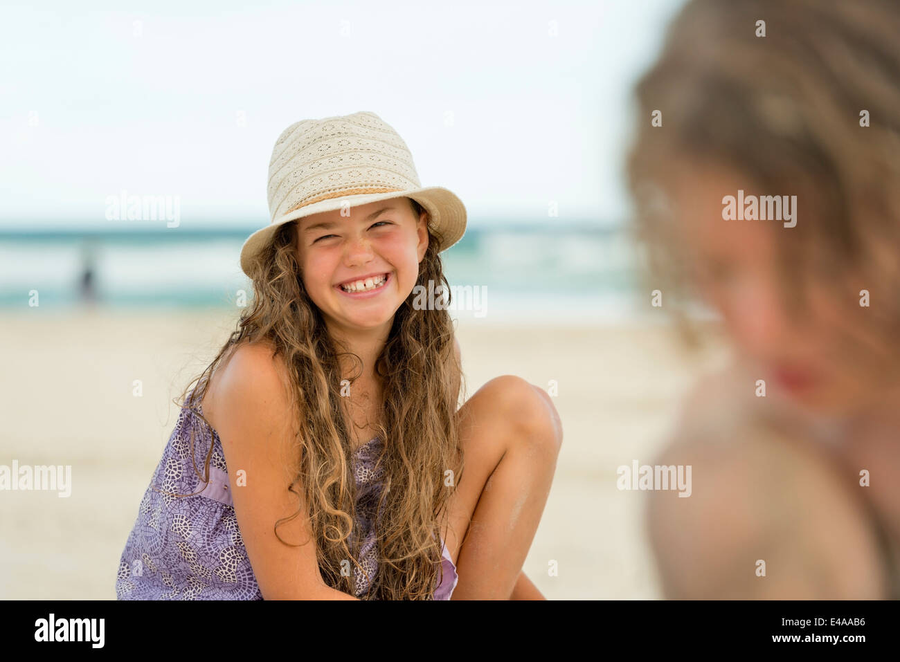
[[[454,600],[508,600],[550,486],[563,428],[543,389],[505,375],[460,408],[465,466],[444,540],[459,581]]]

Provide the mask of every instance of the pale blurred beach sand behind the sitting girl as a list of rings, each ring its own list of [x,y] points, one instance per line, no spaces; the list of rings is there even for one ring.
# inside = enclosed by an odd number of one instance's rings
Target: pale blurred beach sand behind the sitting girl
[[[0,464],[71,465],[72,486],[70,497],[0,492],[0,598],[115,598],[121,550],[175,425],[172,398],[236,318],[215,309],[4,312]],[[470,395],[501,374],[558,385],[563,450],[527,575],[549,599],[660,597],[643,495],[617,490],[616,470],[651,461],[692,381],[724,360],[721,345],[689,355],[661,325],[487,318],[461,320],[458,337]]]

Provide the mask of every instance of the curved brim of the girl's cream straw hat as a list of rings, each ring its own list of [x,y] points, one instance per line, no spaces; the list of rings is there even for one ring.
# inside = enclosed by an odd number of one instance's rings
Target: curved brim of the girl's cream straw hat
[[[428,211],[428,216],[430,217],[428,227],[440,237],[441,251],[445,251],[463,238],[466,225],[465,205],[454,192],[441,186],[428,186],[411,191],[345,195],[339,198],[314,202],[299,210],[293,210],[274,219],[266,228],[258,229],[247,237],[247,241],[244,242],[244,246],[240,249],[240,268],[248,276],[251,275],[253,263],[272,240],[275,230],[283,226],[284,223],[319,214],[323,211],[339,210],[347,203],[353,208],[369,204],[370,202],[391,200],[392,198],[412,198]]]

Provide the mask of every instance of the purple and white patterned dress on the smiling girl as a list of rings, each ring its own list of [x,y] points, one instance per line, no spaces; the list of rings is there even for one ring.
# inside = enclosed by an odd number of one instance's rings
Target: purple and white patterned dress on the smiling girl
[[[197,411],[202,415],[198,403]],[[194,430],[191,461],[191,430]],[[211,438],[210,438],[211,437]],[[192,494],[203,487],[197,476],[203,471],[212,443],[210,482],[193,497],[171,497],[154,490]],[[378,550],[373,528],[382,470],[376,474],[378,437],[356,450],[357,517],[364,542],[360,565],[374,577]],[[441,541],[444,578],[435,589],[435,600],[449,600],[459,579],[453,560]],[[371,584],[356,566],[354,594],[359,597]],[[438,578],[440,576],[438,575]],[[247,558],[231,500],[228,468],[219,434],[202,419],[182,407],[138,509],[119,561],[115,583],[120,600],[262,600],[257,579]]]

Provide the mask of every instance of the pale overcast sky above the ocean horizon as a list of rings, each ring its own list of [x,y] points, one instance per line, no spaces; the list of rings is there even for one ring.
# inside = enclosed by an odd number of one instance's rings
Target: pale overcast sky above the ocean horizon
[[[474,223],[620,220],[631,88],[680,4],[4,2],[0,224],[102,223],[125,190],[262,225],[281,131],[361,110]]]

